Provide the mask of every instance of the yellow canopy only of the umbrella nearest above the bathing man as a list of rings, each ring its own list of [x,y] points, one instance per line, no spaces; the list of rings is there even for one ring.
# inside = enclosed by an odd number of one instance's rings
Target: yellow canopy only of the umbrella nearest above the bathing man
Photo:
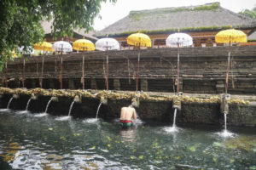
[[[151,47],[150,37],[140,32],[131,34],[129,37],[127,37],[127,43],[134,46],[148,47],[148,48]]]

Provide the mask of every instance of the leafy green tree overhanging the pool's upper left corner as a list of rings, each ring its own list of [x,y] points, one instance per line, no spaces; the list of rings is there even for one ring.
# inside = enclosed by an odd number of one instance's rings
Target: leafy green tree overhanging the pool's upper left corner
[[[101,3],[117,0],[1,0],[0,1],[0,71],[6,59],[18,46],[25,49],[43,41],[41,20],[53,20],[52,33],[56,36],[73,35],[73,30],[92,29]]]

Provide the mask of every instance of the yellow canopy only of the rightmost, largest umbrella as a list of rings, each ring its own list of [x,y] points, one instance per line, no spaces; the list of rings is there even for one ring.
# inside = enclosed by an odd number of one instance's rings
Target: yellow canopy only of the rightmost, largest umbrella
[[[233,43],[233,42],[247,42],[247,35],[240,30],[229,29],[219,31],[215,36],[215,42],[218,43]]]

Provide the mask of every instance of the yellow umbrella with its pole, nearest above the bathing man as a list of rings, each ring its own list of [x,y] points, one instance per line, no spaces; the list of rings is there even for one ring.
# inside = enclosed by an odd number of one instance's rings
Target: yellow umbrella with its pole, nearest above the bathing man
[[[138,33],[131,34],[129,37],[127,37],[127,43],[130,45],[137,46],[139,48],[138,56],[137,56],[137,82],[136,82],[136,90],[138,91],[138,78],[139,78],[139,70],[140,70],[140,47],[151,47],[151,40],[148,35],[141,33],[140,31]]]

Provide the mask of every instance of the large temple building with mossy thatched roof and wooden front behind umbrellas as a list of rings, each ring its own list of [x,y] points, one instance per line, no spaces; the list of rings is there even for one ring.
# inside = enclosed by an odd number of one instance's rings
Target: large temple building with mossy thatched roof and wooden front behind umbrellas
[[[166,47],[166,38],[177,31],[193,37],[194,47],[223,46],[215,42],[218,31],[230,27],[244,31],[247,36],[256,30],[256,20],[222,8],[219,3],[179,8],[155,8],[131,11],[94,36],[114,37],[122,48],[129,48],[126,37],[137,31],[148,34],[153,48]]]

